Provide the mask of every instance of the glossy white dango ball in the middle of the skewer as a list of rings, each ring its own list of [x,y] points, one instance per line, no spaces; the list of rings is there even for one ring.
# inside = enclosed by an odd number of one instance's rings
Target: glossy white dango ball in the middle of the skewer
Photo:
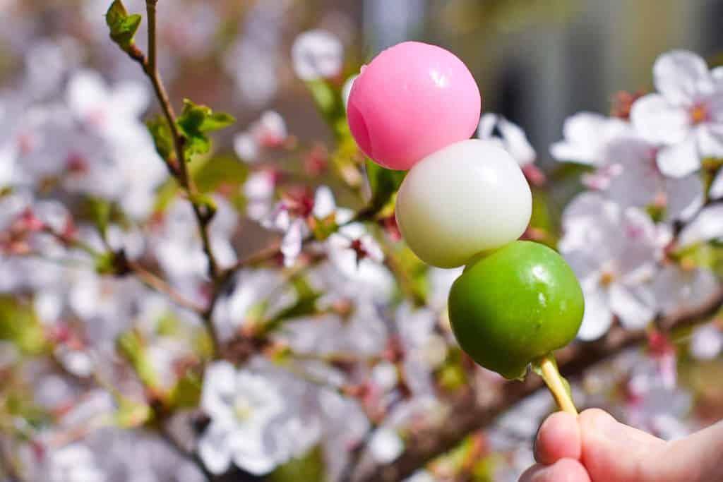
[[[396,204],[408,246],[442,268],[515,241],[531,213],[530,186],[518,164],[495,142],[479,139],[455,142],[414,165]]]

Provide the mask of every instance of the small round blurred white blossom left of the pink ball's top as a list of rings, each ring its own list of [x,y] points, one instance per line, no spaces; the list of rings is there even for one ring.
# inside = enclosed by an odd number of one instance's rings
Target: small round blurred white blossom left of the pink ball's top
[[[335,77],[341,72],[343,56],[341,41],[326,30],[301,33],[291,47],[294,72],[305,81]]]

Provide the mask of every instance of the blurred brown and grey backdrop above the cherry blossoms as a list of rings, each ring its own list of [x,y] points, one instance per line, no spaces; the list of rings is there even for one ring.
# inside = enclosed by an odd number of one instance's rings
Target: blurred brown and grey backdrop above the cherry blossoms
[[[338,35],[348,69],[394,43],[422,40],[465,61],[483,110],[520,124],[544,165],[545,146],[560,138],[565,117],[605,113],[619,90],[651,89],[660,53],[687,48],[716,64],[723,45],[723,3],[716,0],[216,0],[181,1],[180,9],[176,3],[158,7],[163,74],[176,103],[183,96],[231,102],[227,110],[240,125],[273,108],[291,132],[317,139],[328,131],[291,70],[296,35],[311,28]],[[4,85],[35,59],[33,47],[43,39],[82,43],[70,42],[67,61],[116,78],[140,77],[106,42],[106,1],[0,5],[8,25],[0,33]],[[140,2],[128,5],[142,10]],[[138,41],[145,43],[142,35]]]

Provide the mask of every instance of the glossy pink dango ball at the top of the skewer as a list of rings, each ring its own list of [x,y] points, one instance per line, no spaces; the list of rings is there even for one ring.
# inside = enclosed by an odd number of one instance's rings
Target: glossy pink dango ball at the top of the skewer
[[[362,67],[349,94],[351,134],[385,168],[406,170],[469,139],[482,99],[469,69],[444,48],[404,42]]]

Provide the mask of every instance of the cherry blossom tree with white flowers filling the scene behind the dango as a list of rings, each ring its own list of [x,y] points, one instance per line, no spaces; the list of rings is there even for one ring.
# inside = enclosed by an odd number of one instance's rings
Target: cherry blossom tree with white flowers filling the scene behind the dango
[[[77,35],[18,27],[25,64],[0,92],[0,481],[515,481],[553,400],[456,343],[461,270],[411,253],[404,173],[349,132],[350,40],[318,26],[286,48],[289,2],[263,1],[213,52],[213,2],[78,3]],[[166,82],[212,52],[227,90],[209,78],[210,106],[179,108]],[[560,168],[504,116],[476,136],[533,186],[523,238],[581,282],[558,353],[578,405],[672,439],[723,405],[701,382],[723,356],[723,72],[676,50],[652,79],[628,109],[570,116]],[[325,140],[281,109],[224,112],[283,82]],[[580,182],[558,216],[561,171]]]

